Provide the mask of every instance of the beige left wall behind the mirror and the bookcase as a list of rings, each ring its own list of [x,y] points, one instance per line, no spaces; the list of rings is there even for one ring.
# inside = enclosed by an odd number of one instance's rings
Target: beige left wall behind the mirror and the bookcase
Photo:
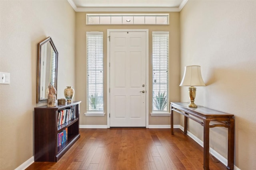
[[[0,0],[0,169],[13,170],[34,155],[37,44],[52,37],[59,52],[58,98],[74,86],[75,12],[68,1]]]

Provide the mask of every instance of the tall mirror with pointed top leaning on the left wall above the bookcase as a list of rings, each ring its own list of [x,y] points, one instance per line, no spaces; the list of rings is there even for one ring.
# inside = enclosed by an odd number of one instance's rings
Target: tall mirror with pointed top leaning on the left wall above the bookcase
[[[49,84],[57,90],[57,70],[58,51],[52,38],[48,37],[38,43],[36,103],[47,102]]]

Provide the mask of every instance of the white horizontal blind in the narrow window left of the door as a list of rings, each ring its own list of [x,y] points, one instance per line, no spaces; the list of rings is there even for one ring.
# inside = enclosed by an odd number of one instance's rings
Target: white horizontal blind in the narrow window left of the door
[[[103,111],[103,32],[86,32],[87,111]]]

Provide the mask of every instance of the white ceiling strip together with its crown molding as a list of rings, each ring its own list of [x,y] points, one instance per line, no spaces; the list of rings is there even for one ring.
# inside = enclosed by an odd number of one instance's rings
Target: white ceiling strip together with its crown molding
[[[179,12],[188,0],[68,0],[76,12]]]

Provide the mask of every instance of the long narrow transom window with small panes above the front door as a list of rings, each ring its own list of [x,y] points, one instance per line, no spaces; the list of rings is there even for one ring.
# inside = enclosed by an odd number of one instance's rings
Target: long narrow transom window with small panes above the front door
[[[86,25],[169,25],[169,14],[86,14]]]

